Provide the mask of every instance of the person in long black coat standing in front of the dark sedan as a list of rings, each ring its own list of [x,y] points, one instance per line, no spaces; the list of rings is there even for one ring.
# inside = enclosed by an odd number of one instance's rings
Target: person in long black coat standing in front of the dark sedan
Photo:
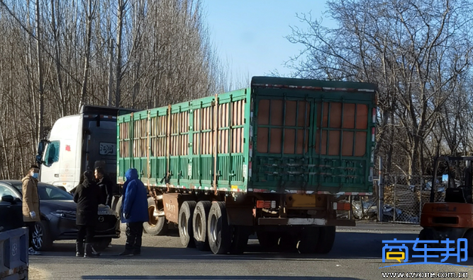
[[[84,182],[77,186],[74,192],[74,202],[77,203],[76,224],[79,226],[76,240],[77,257],[96,257],[92,252],[94,229],[99,214],[100,189],[94,180],[94,173],[88,170],[84,173]],[[85,239],[85,252],[84,252]]]

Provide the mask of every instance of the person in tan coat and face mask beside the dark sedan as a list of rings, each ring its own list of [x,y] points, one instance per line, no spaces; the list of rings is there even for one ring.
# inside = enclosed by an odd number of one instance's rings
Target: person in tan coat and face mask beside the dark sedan
[[[21,180],[21,182],[23,182],[23,187],[21,189],[21,192],[23,193],[23,222],[28,227],[30,236],[28,255],[41,255],[40,252],[33,248],[33,231],[35,231],[35,223],[41,221],[40,198],[38,196],[39,172],[40,168],[38,168],[38,166],[31,165],[28,175]]]

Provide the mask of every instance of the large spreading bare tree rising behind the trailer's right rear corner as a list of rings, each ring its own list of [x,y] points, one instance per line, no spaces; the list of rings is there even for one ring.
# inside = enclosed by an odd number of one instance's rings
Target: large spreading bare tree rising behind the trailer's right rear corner
[[[288,39],[304,49],[288,65],[296,76],[379,84],[377,151],[396,151],[406,173],[423,173],[425,141],[471,69],[472,3],[343,0],[327,11],[338,28],[299,17],[308,29]]]

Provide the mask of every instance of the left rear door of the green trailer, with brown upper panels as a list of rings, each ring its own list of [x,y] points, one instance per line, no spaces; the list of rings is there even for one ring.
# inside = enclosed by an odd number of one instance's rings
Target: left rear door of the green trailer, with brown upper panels
[[[255,167],[253,186],[275,192],[305,189],[313,157],[313,98],[255,98]]]

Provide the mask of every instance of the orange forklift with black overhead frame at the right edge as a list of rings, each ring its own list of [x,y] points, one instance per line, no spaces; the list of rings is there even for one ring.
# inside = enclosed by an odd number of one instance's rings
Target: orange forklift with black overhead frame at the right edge
[[[430,202],[425,203],[421,213],[419,233],[421,240],[457,240],[467,238],[468,255],[473,255],[473,201],[472,201],[473,156],[439,156],[434,160]],[[435,182],[439,163],[448,174],[445,202],[435,202]],[[445,166],[446,165],[446,166]],[[455,183],[456,173],[460,185]]]

